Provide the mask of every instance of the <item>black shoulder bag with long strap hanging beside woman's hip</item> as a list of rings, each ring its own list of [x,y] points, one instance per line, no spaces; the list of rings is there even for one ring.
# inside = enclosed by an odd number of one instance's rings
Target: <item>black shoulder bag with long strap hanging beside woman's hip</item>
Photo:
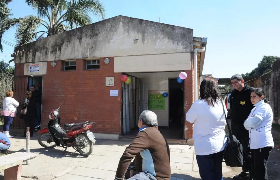
[[[225,108],[222,106],[225,114]],[[225,114],[225,120],[227,121],[227,116]],[[224,150],[224,160],[225,164],[230,167],[242,167],[243,165],[243,147],[239,140],[236,139],[234,135],[232,135],[232,130],[229,127],[229,123],[227,121],[227,128],[229,130],[229,134],[226,134],[227,145]]]

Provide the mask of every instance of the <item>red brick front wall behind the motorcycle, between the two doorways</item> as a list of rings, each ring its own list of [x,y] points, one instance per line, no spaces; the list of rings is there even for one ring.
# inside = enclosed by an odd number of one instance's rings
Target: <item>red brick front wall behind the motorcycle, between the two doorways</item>
[[[100,58],[99,70],[85,70],[85,60],[76,60],[75,71],[63,71],[64,63],[47,62],[43,78],[42,126],[46,127],[49,113],[60,106],[61,124],[95,121],[92,131],[120,134],[121,73],[114,73],[114,58],[105,64]],[[20,63],[19,66],[24,66]],[[105,86],[105,77],[114,77],[113,87]],[[119,97],[110,97],[110,89],[119,90]]]

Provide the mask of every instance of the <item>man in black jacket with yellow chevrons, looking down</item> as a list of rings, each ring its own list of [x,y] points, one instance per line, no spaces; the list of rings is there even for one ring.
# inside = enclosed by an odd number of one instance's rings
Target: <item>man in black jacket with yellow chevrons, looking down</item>
[[[235,74],[230,78],[234,90],[230,95],[230,109],[232,110],[232,134],[240,141],[243,147],[242,172],[233,177],[235,180],[249,180],[251,170],[251,155],[249,145],[249,132],[244,128],[244,121],[248,118],[253,104],[251,103],[252,87],[244,85],[244,79],[240,74]]]

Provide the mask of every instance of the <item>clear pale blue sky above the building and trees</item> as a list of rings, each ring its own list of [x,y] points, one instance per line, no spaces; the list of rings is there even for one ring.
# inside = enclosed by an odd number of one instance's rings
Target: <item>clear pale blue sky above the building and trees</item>
[[[264,55],[280,57],[280,1],[234,0],[101,0],[106,18],[118,15],[193,29],[194,36],[208,37],[203,74],[218,78],[251,72]],[[36,15],[24,0],[9,4],[13,17]],[[92,15],[92,21],[99,21]],[[4,40],[13,44],[12,29]],[[0,60],[8,62],[13,47],[3,44]],[[11,63],[13,65],[13,63]]]

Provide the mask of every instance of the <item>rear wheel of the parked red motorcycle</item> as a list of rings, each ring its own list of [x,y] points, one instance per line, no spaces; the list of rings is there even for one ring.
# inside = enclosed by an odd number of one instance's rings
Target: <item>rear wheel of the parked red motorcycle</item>
[[[92,153],[92,141],[84,134],[78,134],[77,136],[78,143],[80,144],[77,148],[77,151],[83,156],[89,156]]]

